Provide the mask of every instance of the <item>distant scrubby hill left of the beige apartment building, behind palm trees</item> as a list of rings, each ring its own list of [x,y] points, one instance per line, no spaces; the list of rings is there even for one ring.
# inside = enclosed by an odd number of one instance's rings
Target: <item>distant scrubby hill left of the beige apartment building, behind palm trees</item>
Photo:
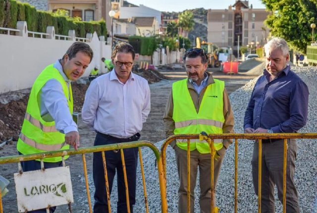
[[[204,8],[196,8],[196,9],[189,9],[194,13],[194,30],[189,33],[188,39],[193,42],[195,37],[195,44],[196,44],[196,37],[200,37],[202,41],[207,41],[207,9]],[[173,17],[178,17],[181,12],[162,12],[162,15],[168,15]],[[194,37],[193,37],[194,36]]]

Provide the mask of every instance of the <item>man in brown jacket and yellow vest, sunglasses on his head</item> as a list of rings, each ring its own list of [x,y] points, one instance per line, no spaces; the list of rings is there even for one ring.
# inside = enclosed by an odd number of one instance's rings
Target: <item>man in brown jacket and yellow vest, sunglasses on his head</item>
[[[233,133],[234,117],[224,82],[207,72],[207,55],[200,48],[188,49],[184,56],[188,78],[173,83],[164,113],[166,138],[176,134]],[[194,213],[197,169],[199,167],[201,213],[211,212],[211,151],[206,141],[190,141],[190,212]],[[214,139],[214,186],[231,140]],[[180,186],[178,212],[187,212],[187,139],[171,143],[175,150]],[[214,196],[214,194],[212,195]],[[215,210],[213,212],[216,212]]]

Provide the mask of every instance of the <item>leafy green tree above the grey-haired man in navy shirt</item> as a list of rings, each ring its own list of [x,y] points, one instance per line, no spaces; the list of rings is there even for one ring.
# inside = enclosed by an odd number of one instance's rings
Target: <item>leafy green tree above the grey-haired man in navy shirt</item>
[[[316,23],[317,0],[262,0],[271,11],[265,24],[272,36],[284,38],[296,51],[306,53]],[[315,40],[315,39],[314,39]]]

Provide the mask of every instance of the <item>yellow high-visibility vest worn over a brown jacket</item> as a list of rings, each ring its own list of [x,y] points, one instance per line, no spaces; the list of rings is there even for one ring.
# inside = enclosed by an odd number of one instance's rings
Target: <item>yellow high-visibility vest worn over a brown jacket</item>
[[[223,90],[224,82],[214,79],[214,83],[207,86],[199,112],[187,88],[187,79],[173,83],[173,120],[175,122],[174,134],[221,134],[224,123],[223,116]],[[187,140],[177,139],[177,146],[187,150]],[[214,139],[215,150],[220,150],[221,139]],[[197,149],[202,154],[210,153],[207,141],[192,139],[190,150]]]

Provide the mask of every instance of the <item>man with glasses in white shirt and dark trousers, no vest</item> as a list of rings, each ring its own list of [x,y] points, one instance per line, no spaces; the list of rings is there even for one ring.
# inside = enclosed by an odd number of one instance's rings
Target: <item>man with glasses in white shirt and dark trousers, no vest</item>
[[[111,59],[114,69],[96,78],[90,84],[82,109],[83,122],[97,132],[94,146],[137,141],[142,125],[150,113],[148,81],[131,72],[135,57],[131,45],[120,43]],[[138,148],[124,149],[128,177],[130,212],[133,213],[136,190]],[[94,153],[93,178],[95,184],[94,213],[107,213],[105,171],[101,153]],[[117,172],[117,212],[127,213],[126,193],[121,154],[118,150],[106,152],[106,168],[111,193]]]

